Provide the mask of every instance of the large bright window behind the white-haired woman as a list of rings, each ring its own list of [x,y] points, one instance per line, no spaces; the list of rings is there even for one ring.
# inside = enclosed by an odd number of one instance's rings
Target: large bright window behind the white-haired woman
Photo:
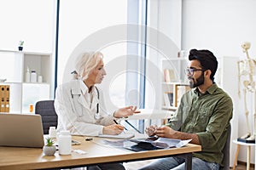
[[[99,50],[104,54],[107,76],[100,86],[104,91],[108,110],[125,105],[138,105],[135,101],[139,89],[141,44],[128,42],[140,32],[130,32],[127,24],[138,24],[141,1],[96,0],[60,1],[58,84],[69,81],[75,58],[84,51]],[[101,5],[99,5],[101,4]],[[138,28],[138,26],[137,26]],[[138,28],[139,29],[139,28]],[[129,62],[127,62],[129,60]],[[133,67],[132,71],[131,67]],[[135,92],[135,93],[133,93]],[[136,94],[136,96],[134,96]]]

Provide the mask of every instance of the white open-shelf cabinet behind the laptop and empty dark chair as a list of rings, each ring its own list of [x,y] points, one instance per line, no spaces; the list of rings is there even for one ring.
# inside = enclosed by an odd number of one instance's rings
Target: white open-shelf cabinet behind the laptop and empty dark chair
[[[30,105],[52,98],[52,55],[48,53],[0,50],[0,82],[9,85],[9,112],[31,113]],[[37,72],[43,82],[26,82],[26,69]],[[34,111],[32,111],[34,112]]]

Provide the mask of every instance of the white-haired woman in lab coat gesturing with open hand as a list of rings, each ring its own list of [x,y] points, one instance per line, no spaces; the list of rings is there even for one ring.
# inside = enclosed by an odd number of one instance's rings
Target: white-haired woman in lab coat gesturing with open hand
[[[101,83],[104,70],[103,55],[100,52],[84,53],[79,56],[74,78],[61,84],[55,92],[55,111],[58,115],[57,131],[69,130],[72,134],[98,136],[119,134],[124,127],[113,120],[131,116],[139,111],[136,106],[127,106],[108,114],[102,91],[95,84]],[[107,163],[88,169],[125,169],[122,164]]]

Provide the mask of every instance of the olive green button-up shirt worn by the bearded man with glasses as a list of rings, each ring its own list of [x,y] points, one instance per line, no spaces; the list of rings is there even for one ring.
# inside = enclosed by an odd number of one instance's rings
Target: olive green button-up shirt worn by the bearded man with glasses
[[[222,165],[232,111],[230,96],[213,83],[206,94],[201,94],[198,88],[184,94],[175,119],[167,125],[184,133],[196,133],[202,151],[193,156]]]

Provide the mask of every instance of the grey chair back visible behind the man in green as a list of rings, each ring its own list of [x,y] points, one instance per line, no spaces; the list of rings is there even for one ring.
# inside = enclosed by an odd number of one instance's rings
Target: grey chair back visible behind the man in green
[[[227,141],[224,145],[224,149],[222,152],[224,153],[224,158],[223,158],[223,164],[224,167],[220,167],[220,170],[229,170],[230,169],[230,136],[231,136],[231,125],[228,127],[228,138]]]

